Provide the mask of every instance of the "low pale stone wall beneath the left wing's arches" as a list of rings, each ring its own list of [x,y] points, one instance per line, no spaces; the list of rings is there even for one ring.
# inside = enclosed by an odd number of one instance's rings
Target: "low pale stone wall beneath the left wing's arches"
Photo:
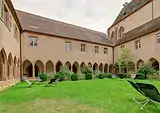
[[[16,83],[20,82],[20,79],[12,79],[7,81],[0,81],[0,91],[3,91],[7,89],[8,87],[11,87],[15,85]]]

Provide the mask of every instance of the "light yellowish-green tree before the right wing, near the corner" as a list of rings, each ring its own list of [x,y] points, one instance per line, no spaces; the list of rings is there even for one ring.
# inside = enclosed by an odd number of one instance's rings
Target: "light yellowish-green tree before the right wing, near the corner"
[[[129,67],[129,63],[132,62],[133,60],[134,60],[134,57],[130,49],[123,48],[118,58],[118,65],[126,68],[126,67]]]

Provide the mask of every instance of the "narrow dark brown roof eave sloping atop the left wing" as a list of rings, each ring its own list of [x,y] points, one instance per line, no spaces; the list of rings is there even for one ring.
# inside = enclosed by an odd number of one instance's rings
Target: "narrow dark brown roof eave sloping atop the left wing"
[[[18,25],[18,28],[21,30],[22,27],[21,27],[21,24],[19,22],[19,19],[17,17],[16,11],[14,9],[14,6],[13,6],[11,0],[5,0],[5,3],[7,4],[9,10],[11,11],[13,18],[15,19],[15,21],[16,21],[16,23]]]

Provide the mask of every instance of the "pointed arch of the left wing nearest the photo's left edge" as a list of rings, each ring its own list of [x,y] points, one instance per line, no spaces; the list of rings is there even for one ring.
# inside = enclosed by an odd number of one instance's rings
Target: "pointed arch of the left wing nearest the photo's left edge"
[[[7,55],[4,49],[0,51],[0,81],[7,79]]]

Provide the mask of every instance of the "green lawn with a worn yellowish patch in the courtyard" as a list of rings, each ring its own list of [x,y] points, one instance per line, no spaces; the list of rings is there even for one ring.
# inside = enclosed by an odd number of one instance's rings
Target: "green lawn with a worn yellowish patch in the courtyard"
[[[160,89],[160,81],[152,83]],[[0,92],[0,113],[159,113],[153,103],[140,109],[132,98],[145,98],[126,80],[61,82],[54,87],[19,83]]]

